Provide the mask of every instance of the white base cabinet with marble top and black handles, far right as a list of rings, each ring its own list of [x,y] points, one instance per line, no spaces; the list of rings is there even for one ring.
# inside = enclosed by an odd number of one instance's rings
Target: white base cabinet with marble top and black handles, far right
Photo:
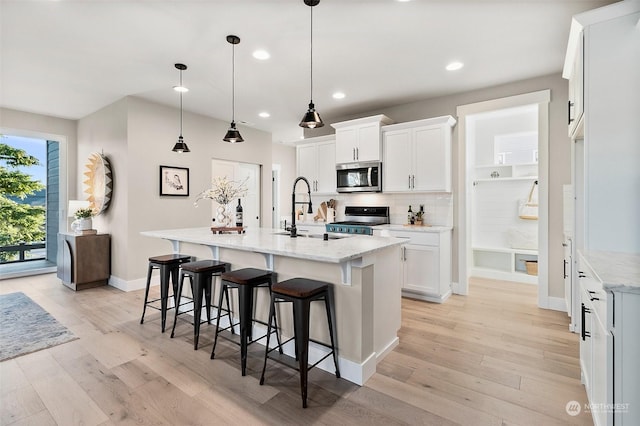
[[[596,426],[640,424],[639,264],[637,254],[580,256],[580,368]]]

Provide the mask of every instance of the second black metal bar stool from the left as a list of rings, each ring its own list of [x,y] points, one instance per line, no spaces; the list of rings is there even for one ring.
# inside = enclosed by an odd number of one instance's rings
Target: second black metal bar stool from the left
[[[181,311],[175,310],[175,316],[173,318],[173,328],[171,329],[171,337],[174,336],[176,331],[176,322],[178,321],[178,315],[186,314],[193,311],[193,350],[198,349],[198,339],[200,337],[200,324],[202,314],[202,294],[204,293],[204,301],[207,308],[207,323],[211,324],[211,293],[212,289],[215,292],[215,285],[213,284],[214,277],[220,276],[223,272],[227,272],[231,269],[231,264],[226,262],[220,262],[217,260],[198,260],[195,262],[189,262],[182,264],[180,272],[180,283],[178,284],[177,300],[182,298],[182,288],[184,284],[184,277],[189,277],[191,282],[191,294],[193,309]],[[178,304],[178,306],[180,306]],[[214,305],[215,306],[215,305]],[[216,306],[216,309],[222,309],[220,306]],[[231,322],[231,309],[229,308],[229,297],[227,297],[227,315]],[[233,332],[233,329],[232,329]]]

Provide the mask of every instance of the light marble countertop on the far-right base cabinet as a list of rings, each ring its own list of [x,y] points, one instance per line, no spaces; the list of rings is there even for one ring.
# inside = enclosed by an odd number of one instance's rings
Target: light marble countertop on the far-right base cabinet
[[[580,252],[606,290],[640,291],[640,254],[596,250]]]

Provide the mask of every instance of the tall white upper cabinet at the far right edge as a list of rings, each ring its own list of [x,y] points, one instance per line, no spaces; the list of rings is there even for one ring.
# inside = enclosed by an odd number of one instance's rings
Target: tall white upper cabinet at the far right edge
[[[621,1],[571,24],[563,76],[580,74],[576,52],[583,64],[582,119],[572,114],[584,122],[573,134],[577,249],[640,252],[639,20],[640,2]]]

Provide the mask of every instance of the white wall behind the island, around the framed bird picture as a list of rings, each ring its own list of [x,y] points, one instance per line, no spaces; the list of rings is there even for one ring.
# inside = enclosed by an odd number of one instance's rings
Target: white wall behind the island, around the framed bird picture
[[[226,143],[222,137],[228,123],[185,111],[183,136],[191,152],[179,154],[171,151],[179,134],[178,117],[177,108],[127,97],[79,120],[78,167],[98,150],[114,171],[114,199],[96,227],[112,235],[112,278],[124,288],[142,283],[149,256],[171,251],[168,242],[143,237],[141,231],[211,225],[210,203],[195,207],[194,201],[211,184],[212,158],[262,166],[261,216],[270,221],[270,134],[240,127],[245,142]],[[189,168],[189,197],[160,197],[160,165]]]

